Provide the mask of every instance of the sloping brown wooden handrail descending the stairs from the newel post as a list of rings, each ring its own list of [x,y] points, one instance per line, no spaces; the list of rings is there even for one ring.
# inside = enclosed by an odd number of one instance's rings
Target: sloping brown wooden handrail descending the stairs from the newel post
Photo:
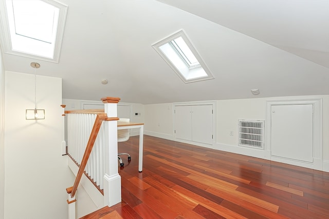
[[[89,111],[89,113],[90,113],[90,111]],[[92,113],[95,113],[95,111],[92,112]],[[86,150],[84,151],[84,154],[83,154],[83,157],[82,157],[82,161],[81,161],[81,164],[80,164],[80,167],[79,167],[79,171],[78,171],[76,180],[75,180],[74,185],[73,185],[73,187],[71,189],[71,192],[70,192],[71,197],[74,197],[75,194],[76,194],[76,191],[78,189],[78,185],[80,183],[83,171],[84,171],[84,169],[87,165],[89,155],[93,150],[93,146],[94,146],[94,143],[96,141],[99,129],[101,128],[102,122],[103,121],[115,121],[115,120],[119,120],[119,118],[118,117],[109,117],[108,118],[106,113],[97,113],[96,120],[95,120],[92,132],[90,133],[89,140],[88,140],[88,143],[87,143],[87,146],[86,146]]]

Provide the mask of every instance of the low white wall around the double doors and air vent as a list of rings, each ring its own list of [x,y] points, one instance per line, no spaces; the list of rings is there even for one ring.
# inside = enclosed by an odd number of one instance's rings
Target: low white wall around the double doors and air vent
[[[238,146],[237,133],[239,119],[266,120],[267,101],[287,101],[291,99],[307,98],[322,98],[323,170],[329,172],[329,95],[229,99],[216,101],[216,144],[209,147],[270,159],[266,151]],[[173,110],[171,106],[172,104],[149,104],[144,106],[145,134],[175,140],[173,133]],[[233,131],[233,136],[230,135],[230,131]],[[191,142],[191,144],[194,143]]]

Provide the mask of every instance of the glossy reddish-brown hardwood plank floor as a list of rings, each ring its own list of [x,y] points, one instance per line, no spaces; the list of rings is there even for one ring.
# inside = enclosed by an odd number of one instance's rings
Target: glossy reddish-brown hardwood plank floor
[[[122,202],[87,218],[329,218],[329,173],[144,135],[129,152]]]

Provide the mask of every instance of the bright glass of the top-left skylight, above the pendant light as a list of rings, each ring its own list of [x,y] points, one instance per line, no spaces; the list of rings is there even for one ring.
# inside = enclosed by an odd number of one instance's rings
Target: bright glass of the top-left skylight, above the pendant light
[[[11,0],[7,12],[12,49],[53,58],[59,10],[42,1]]]

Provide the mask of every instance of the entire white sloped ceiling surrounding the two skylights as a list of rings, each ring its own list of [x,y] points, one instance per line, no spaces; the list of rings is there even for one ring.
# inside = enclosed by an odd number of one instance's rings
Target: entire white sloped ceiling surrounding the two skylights
[[[152,104],[329,94],[327,0],[61,2],[60,62],[37,61],[37,74],[63,78],[63,98]],[[152,48],[180,29],[215,79],[185,84]],[[35,59],[3,58],[7,71],[34,73]]]

